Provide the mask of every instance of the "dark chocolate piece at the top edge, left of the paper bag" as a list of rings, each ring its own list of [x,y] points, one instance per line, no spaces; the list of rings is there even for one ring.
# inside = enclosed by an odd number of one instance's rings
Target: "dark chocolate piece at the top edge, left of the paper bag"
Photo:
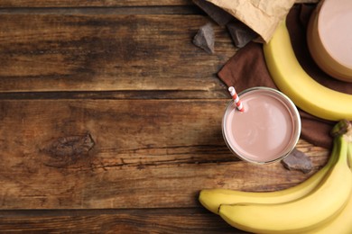
[[[232,14],[227,13],[217,5],[205,0],[193,0],[193,3],[197,4],[200,9],[208,14],[208,16],[220,26],[225,26],[235,18]]]

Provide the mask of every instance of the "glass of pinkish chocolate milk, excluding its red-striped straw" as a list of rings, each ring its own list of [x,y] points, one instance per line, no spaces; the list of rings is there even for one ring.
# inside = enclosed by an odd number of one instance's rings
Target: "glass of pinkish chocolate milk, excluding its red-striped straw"
[[[257,164],[289,155],[301,134],[300,113],[294,103],[268,87],[246,89],[238,96],[244,111],[232,100],[222,121],[227,147],[237,157]]]

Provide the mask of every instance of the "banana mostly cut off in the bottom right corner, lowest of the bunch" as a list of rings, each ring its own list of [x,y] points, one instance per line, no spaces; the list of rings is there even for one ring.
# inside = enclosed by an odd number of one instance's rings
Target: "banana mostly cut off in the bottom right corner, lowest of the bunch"
[[[348,161],[352,165],[352,143],[348,145]],[[346,207],[338,214],[338,216],[326,223],[322,224],[319,228],[313,229],[306,234],[351,234],[352,233],[352,195],[349,196]]]

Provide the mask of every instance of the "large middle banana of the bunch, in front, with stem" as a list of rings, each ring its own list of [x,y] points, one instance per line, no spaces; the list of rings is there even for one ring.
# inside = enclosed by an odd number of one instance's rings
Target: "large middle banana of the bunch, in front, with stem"
[[[343,136],[334,139],[338,160],[313,192],[292,202],[224,204],[219,215],[237,229],[255,233],[303,233],[330,220],[343,209],[352,191],[349,142]]]

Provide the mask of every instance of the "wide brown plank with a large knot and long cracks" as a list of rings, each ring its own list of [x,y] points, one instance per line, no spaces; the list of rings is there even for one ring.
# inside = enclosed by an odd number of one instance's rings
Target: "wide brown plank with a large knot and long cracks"
[[[226,104],[2,100],[0,208],[199,207],[203,188],[276,190],[311,175],[233,157],[220,130]],[[313,172],[325,163],[326,150],[299,147]]]

